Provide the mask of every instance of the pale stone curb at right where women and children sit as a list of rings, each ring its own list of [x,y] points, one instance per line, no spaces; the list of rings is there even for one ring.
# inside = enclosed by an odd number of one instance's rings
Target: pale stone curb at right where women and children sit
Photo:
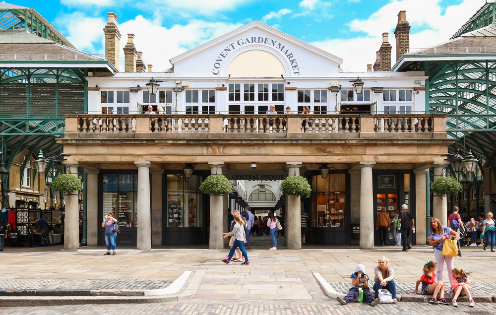
[[[325,279],[322,277],[320,273],[313,272],[313,276],[315,277],[315,279],[320,284],[325,294],[329,298],[336,299],[337,297],[344,298],[346,296],[346,294],[334,290],[334,288],[329,284],[329,282],[325,281]],[[430,300],[432,298],[432,294],[427,295],[427,297]],[[444,298],[448,302],[451,302],[451,300],[453,300],[453,298],[450,297],[449,295],[444,296]],[[496,296],[492,296],[492,295],[474,295],[472,296],[472,298],[474,299],[474,302],[477,303],[496,303]],[[398,294],[397,300],[398,302],[424,303],[424,296],[418,294],[406,294],[406,295]],[[468,298],[459,297],[457,299],[457,302],[468,303]]]

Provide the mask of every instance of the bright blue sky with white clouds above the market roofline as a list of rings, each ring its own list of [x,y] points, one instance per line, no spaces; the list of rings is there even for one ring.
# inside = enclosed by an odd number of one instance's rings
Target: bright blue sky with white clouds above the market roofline
[[[7,1],[9,2],[9,1]],[[103,53],[107,12],[115,12],[123,34],[135,34],[137,50],[154,70],[169,59],[252,20],[322,48],[345,61],[342,68],[366,70],[375,60],[382,32],[407,11],[411,48],[441,43],[485,0],[24,0],[10,3],[35,8],[78,49]],[[179,35],[179,36],[178,36]],[[123,54],[121,54],[123,55]],[[393,63],[394,63],[393,51]]]

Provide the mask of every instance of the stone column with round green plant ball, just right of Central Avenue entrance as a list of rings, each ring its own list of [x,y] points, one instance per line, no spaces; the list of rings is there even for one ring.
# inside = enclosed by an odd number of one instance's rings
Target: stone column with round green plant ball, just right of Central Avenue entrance
[[[287,199],[287,222],[285,236],[287,246],[290,250],[302,248],[301,238],[301,215],[300,215],[300,197],[309,197],[311,187],[306,178],[301,176],[288,176],[281,183],[281,190],[288,195]]]

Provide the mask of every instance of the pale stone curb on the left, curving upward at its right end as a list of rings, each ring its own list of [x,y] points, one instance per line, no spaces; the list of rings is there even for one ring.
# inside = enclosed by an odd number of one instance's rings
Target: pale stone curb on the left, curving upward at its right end
[[[62,306],[81,304],[145,304],[162,303],[186,300],[191,298],[199,287],[205,271],[196,272],[196,277],[191,279],[186,289],[179,292],[186,283],[192,271],[185,271],[169,287],[158,290],[92,290],[92,291],[56,291],[56,290],[6,290],[12,293],[36,293],[35,296],[4,296],[0,299],[0,307],[25,307],[25,306]],[[54,293],[53,296],[40,296],[38,293]],[[57,295],[55,295],[57,293]],[[89,293],[88,296],[68,296],[66,293]],[[63,295],[63,296],[62,296]]]

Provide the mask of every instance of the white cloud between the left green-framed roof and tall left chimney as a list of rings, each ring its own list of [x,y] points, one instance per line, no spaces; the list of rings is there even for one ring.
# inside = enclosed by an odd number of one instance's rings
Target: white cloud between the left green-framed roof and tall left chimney
[[[55,19],[55,24],[62,34],[78,50],[95,54],[102,53],[95,48],[104,42],[103,28],[107,24],[104,18],[86,16],[83,12],[76,11],[70,14],[60,15]],[[64,30],[65,29],[65,30]]]

